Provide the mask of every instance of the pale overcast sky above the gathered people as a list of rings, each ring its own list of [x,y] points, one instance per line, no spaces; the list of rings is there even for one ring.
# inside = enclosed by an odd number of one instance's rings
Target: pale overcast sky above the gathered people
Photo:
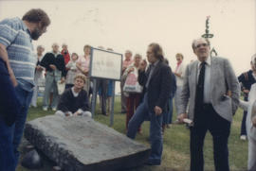
[[[46,10],[51,25],[34,45],[46,51],[52,43],[67,43],[82,55],[84,44],[131,49],[145,58],[149,43],[160,43],[174,69],[174,56],[194,60],[191,43],[205,32],[210,15],[211,40],[218,54],[230,60],[236,75],[247,71],[256,52],[255,0],[73,0],[3,1],[0,20],[22,17],[28,9]]]

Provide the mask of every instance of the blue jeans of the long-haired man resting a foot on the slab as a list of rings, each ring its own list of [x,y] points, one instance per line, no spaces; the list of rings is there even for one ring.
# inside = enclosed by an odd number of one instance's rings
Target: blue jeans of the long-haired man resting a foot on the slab
[[[144,95],[143,102],[137,107],[136,113],[128,124],[127,136],[135,139],[137,129],[147,118],[150,119],[150,141],[151,141],[151,154],[148,162],[153,164],[160,164],[163,150],[163,139],[161,134],[162,128],[162,114],[155,116],[155,113],[150,112],[148,106],[148,94]]]

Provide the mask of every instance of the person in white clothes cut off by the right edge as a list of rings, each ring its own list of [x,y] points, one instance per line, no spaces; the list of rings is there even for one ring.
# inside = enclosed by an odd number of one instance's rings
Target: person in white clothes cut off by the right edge
[[[256,67],[256,54],[251,62]],[[248,101],[240,100],[240,107],[247,111],[248,171],[256,170],[256,83],[252,84]]]

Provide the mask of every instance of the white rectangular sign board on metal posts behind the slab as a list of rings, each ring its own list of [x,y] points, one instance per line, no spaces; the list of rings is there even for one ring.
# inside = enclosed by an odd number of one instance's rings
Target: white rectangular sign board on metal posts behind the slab
[[[90,77],[120,80],[122,55],[92,48]]]

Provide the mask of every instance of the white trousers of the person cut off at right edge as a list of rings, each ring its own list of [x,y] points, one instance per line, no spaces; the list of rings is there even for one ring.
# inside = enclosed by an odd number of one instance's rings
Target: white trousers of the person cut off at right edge
[[[256,171],[256,141],[248,136],[248,171]]]

